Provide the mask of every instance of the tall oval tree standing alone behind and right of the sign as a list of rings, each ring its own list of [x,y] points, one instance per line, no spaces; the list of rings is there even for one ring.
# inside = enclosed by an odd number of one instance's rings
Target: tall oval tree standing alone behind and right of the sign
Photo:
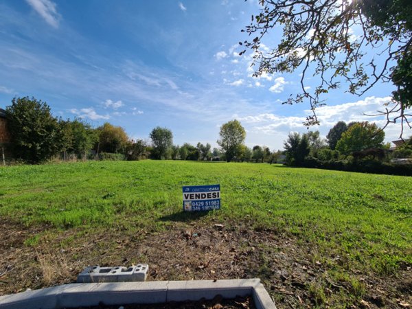
[[[246,131],[238,120],[232,120],[220,127],[220,139],[218,145],[225,152],[226,161],[230,162],[240,151],[240,145],[244,143]]]

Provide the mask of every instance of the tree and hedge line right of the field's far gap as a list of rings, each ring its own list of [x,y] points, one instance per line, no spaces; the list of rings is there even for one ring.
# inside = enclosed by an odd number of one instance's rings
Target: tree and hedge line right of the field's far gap
[[[382,174],[412,174],[412,137],[396,149],[384,144],[385,133],[374,123],[337,122],[320,138],[319,131],[290,133],[284,142],[286,164]],[[402,166],[396,159],[402,158]]]

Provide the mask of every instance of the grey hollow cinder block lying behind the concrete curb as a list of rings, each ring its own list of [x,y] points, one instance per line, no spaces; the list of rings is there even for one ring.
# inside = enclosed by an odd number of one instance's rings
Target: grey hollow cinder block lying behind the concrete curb
[[[100,267],[91,266],[84,268],[78,275],[78,283],[92,282],[137,282],[146,281],[149,266],[138,264],[136,266]]]

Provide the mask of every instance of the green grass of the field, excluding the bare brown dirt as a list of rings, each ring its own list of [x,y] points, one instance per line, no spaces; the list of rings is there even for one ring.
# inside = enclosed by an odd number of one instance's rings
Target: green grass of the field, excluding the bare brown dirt
[[[220,183],[222,209],[183,213],[183,185],[215,183]],[[37,255],[43,258],[45,244],[50,253],[56,248],[69,250],[76,242],[98,233],[114,237],[113,231],[124,231],[131,237],[144,232],[150,237],[220,223],[235,235],[246,228],[256,235],[270,235],[280,244],[282,240],[293,243],[298,251],[310,248],[302,254],[314,268],[322,267],[316,268],[312,282],[304,282],[302,296],[310,296],[311,306],[345,307],[365,301],[367,278],[385,282],[391,277],[392,285],[410,284],[412,288],[411,187],[412,178],[404,176],[255,163],[92,161],[22,165],[0,168],[0,216],[8,222],[4,228],[12,225],[34,231],[25,236],[21,248],[42,252]],[[277,293],[276,286],[282,282],[288,283],[286,287],[296,287],[293,281],[288,282],[290,278],[280,282],[278,275],[271,273],[274,266],[269,253],[276,250],[257,242],[253,247],[259,251],[260,266],[253,274],[274,287],[271,295],[279,308],[288,308],[291,301],[296,301],[293,306],[300,306],[297,299],[288,299],[293,297],[288,293]],[[3,243],[1,248],[3,258],[10,253],[7,246],[10,244]],[[242,250],[242,246],[240,242],[236,250]],[[89,254],[95,254],[93,250]],[[73,253],[66,262],[82,258],[82,254]],[[145,259],[144,254],[141,259]],[[93,255],[93,262],[99,262],[98,256]],[[42,266],[39,258],[33,263]],[[82,266],[86,265],[76,264],[73,273]],[[163,277],[188,279],[169,275]],[[196,277],[196,270],[190,275]],[[336,288],[345,284],[350,286],[348,293]],[[3,287],[3,293],[10,290]],[[385,306],[398,306],[394,297],[402,299],[402,295],[396,288],[383,295]],[[403,301],[408,299],[410,296],[404,296]],[[282,301],[286,301],[285,306]],[[374,301],[369,299],[368,304]],[[301,303],[304,305],[305,301]]]

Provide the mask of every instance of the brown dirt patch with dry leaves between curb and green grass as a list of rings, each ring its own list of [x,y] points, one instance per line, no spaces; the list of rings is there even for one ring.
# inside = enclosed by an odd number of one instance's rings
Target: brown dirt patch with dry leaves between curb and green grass
[[[167,231],[111,229],[45,233],[1,225],[0,293],[74,282],[85,266],[147,263],[148,280],[262,279],[277,308],[312,306],[406,308],[412,304],[411,265],[380,277],[345,255],[273,230],[239,225],[174,222]],[[25,240],[43,233],[38,244]],[[336,272],[345,276],[336,277]]]

